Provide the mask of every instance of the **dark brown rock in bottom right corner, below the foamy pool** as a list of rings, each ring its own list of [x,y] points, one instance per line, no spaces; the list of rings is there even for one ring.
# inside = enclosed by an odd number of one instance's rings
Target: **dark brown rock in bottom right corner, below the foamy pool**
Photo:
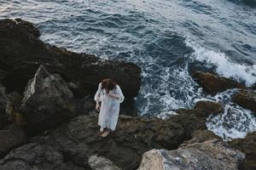
[[[241,150],[246,154],[246,159],[241,165],[241,169],[256,169],[256,132],[248,133],[245,139],[233,139],[229,144],[236,150]]]

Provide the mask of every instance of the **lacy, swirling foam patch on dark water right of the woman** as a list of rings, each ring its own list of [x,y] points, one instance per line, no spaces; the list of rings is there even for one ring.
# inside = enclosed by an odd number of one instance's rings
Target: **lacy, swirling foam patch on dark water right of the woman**
[[[150,68],[147,68],[150,69]],[[197,99],[201,99],[201,88],[189,76],[188,65],[171,69],[163,67],[155,83],[147,83],[148,75],[143,71],[143,87],[137,97],[141,115],[170,115],[179,108],[191,108]],[[158,111],[158,112],[155,112]]]

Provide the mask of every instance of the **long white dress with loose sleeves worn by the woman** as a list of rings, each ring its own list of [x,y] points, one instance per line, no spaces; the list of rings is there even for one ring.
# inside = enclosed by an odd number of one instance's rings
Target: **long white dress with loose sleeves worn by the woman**
[[[116,85],[116,88],[109,91],[109,94],[119,96],[119,99],[114,99],[107,95],[106,90],[102,89],[102,82],[99,84],[98,90],[94,99],[101,103],[98,125],[102,128],[114,130],[119,118],[119,107],[125,99],[121,88]]]

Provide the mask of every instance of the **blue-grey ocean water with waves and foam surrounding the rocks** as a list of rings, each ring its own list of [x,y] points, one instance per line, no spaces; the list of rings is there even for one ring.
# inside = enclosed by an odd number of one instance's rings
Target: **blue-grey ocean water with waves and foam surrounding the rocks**
[[[224,103],[207,127],[223,139],[256,130],[255,116],[230,101],[236,89],[206,95],[190,77],[200,68],[256,82],[253,0],[0,0],[0,19],[32,21],[44,42],[140,65],[140,115],[166,117],[198,100]]]

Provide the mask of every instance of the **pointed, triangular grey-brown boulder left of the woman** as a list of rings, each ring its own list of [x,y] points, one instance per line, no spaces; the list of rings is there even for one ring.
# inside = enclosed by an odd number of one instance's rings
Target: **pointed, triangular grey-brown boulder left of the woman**
[[[26,116],[28,130],[55,127],[75,116],[73,93],[59,75],[50,75],[40,65],[27,84],[21,111]]]

